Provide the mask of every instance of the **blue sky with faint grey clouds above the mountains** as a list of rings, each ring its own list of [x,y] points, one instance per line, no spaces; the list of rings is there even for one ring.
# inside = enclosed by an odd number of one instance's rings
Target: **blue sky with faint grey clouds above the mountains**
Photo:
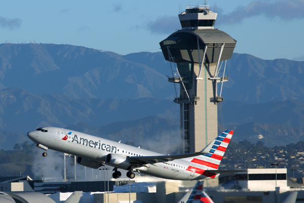
[[[2,1],[0,43],[53,43],[119,54],[160,51],[181,26],[179,7],[197,1]],[[236,39],[235,52],[304,60],[304,0],[207,2],[215,27]]]

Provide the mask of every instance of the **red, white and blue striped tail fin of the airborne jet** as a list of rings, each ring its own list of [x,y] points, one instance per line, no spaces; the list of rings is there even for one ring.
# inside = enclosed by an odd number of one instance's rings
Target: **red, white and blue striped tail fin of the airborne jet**
[[[233,135],[233,130],[226,129],[215,138],[202,152],[204,155],[196,156],[191,162],[217,169]]]

